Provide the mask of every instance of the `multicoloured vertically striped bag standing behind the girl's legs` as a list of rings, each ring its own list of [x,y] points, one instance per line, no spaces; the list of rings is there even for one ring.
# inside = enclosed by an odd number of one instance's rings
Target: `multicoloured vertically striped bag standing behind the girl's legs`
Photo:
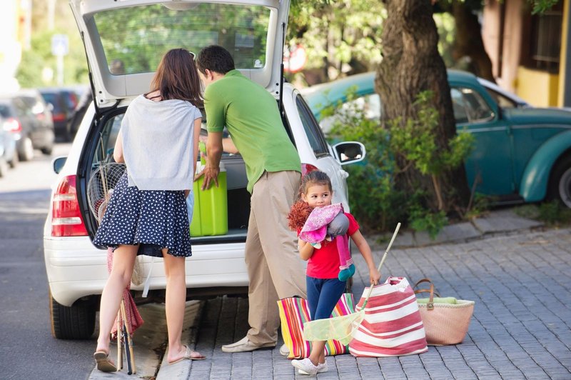
[[[416,300],[415,300],[416,301]],[[288,346],[288,359],[303,359],[311,352],[311,342],[303,339],[303,324],[310,321],[308,301],[300,297],[288,297],[278,301],[281,334],[283,343]],[[355,312],[353,294],[341,296],[331,316],[343,316]],[[348,346],[339,341],[329,340],[325,344],[325,355],[338,355],[348,352]]]

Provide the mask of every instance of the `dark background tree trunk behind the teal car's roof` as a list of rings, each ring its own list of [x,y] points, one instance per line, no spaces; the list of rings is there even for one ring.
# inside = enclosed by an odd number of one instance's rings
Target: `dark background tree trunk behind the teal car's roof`
[[[481,3],[477,5],[481,7]],[[474,74],[495,83],[492,61],[482,40],[482,26],[469,1],[453,1],[451,13],[456,21],[453,58],[458,61],[464,56],[469,56]]]

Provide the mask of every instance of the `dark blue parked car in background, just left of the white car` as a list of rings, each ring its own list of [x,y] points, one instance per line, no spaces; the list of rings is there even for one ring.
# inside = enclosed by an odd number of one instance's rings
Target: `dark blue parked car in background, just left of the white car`
[[[76,91],[59,87],[44,88],[39,89],[39,91],[44,100],[51,104],[56,137],[64,141],[71,141],[74,135],[69,130],[69,119],[79,101]]]

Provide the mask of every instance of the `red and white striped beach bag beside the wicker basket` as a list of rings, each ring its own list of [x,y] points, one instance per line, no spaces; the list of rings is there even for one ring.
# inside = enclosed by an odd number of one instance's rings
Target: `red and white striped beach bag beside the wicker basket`
[[[357,307],[360,310],[368,288]],[[415,292],[404,277],[389,277],[376,285],[365,306],[365,318],[353,333],[353,356],[401,356],[427,351],[423,320]]]

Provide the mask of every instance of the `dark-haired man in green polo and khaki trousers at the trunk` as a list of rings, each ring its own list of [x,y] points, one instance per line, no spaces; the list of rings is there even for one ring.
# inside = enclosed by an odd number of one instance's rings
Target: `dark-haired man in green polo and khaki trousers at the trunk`
[[[297,196],[301,164],[298,152],[283,128],[276,99],[234,67],[231,54],[221,46],[202,49],[196,61],[206,86],[204,108],[208,160],[202,172],[203,189],[218,186],[224,126],[246,164],[251,193],[246,237],[248,323],[246,337],[222,346],[224,352],[274,347],[280,323],[276,301],[305,298],[305,272],[297,253],[296,236],[286,218]],[[281,349],[284,354],[283,349]]]

